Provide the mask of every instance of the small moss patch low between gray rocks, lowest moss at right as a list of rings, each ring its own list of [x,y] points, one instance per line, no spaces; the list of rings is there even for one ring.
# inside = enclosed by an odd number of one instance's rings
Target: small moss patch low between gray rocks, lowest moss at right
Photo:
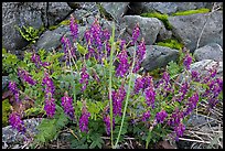
[[[157,45],[168,46],[170,48],[181,50],[183,47],[182,43],[179,43],[178,40],[168,39],[162,42],[158,42]]]

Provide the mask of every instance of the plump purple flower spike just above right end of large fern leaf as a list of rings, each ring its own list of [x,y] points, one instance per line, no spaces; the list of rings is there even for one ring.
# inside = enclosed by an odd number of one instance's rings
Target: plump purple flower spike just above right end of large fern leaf
[[[74,108],[73,108],[73,98],[68,97],[65,93],[64,97],[61,98],[64,112],[71,118],[74,119]]]

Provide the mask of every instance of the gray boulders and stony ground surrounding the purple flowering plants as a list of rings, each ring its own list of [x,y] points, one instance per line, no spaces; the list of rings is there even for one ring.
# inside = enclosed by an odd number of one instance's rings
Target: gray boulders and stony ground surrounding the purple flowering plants
[[[101,6],[100,10],[99,6]],[[173,15],[173,13],[179,11],[201,8],[207,8],[211,11],[189,15]],[[168,29],[158,18],[141,17],[142,13],[152,11],[167,13],[168,22],[172,28]],[[196,62],[192,64],[191,69],[201,71],[204,74],[206,68],[218,63],[216,76],[223,76],[222,2],[3,2],[2,46],[9,52],[22,57],[23,52],[31,47],[14,25],[25,25],[43,29],[39,34],[36,43],[32,45],[35,51],[39,48],[62,51],[60,40],[64,34],[69,36],[69,26],[60,23],[68,20],[71,14],[79,21],[81,39],[84,36],[86,26],[89,26],[96,18],[99,20],[101,26],[109,29],[109,31],[111,31],[113,22],[116,21],[116,36],[125,40],[131,37],[132,29],[138,22],[140,25],[140,37],[144,39],[147,45],[147,56],[142,63],[142,67],[147,72],[158,67],[164,67],[169,62],[178,60],[178,50],[157,45],[157,43],[164,40],[174,39],[193,53]],[[129,48],[131,50],[132,47]],[[8,76],[2,76],[3,91],[7,90],[7,85]],[[222,138],[223,140],[223,134],[221,137],[221,132],[223,133],[223,116],[218,116],[218,112],[221,112],[218,110],[217,114],[215,114],[216,111],[214,112],[214,118],[217,116],[216,119],[222,121],[222,125],[219,122],[212,125],[210,118],[195,115],[190,120],[190,123],[199,121],[200,123],[193,123],[196,126],[196,129],[189,130],[188,134],[192,132],[191,137],[189,136],[184,140],[181,140],[174,148],[213,148],[212,140],[214,140],[217,147],[223,148],[219,139]],[[31,123],[31,129],[35,129],[35,125],[40,120],[28,119],[26,121],[29,125]],[[205,136],[210,136],[210,139],[205,139],[204,134],[204,137],[200,137],[200,133],[193,131],[202,131],[202,133],[206,133]],[[216,133],[215,131],[221,132]],[[211,136],[212,133],[214,137],[217,136],[218,141]],[[2,148],[26,148],[31,140],[25,140],[22,144],[18,143],[18,141],[23,139],[10,126],[2,128]],[[15,140],[18,141],[13,144],[12,142],[15,142]],[[52,145],[57,148],[60,145],[58,143],[54,142]],[[64,145],[63,142],[61,144]],[[128,142],[128,144],[130,143]],[[68,145],[65,144],[66,147]],[[131,148],[131,145],[128,147]]]

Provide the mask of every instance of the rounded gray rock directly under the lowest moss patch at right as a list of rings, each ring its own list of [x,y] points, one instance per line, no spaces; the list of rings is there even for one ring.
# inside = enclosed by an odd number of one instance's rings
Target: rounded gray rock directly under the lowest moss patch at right
[[[133,46],[128,48],[132,55]],[[164,67],[171,61],[178,61],[179,51],[159,45],[146,45],[146,57],[141,64],[143,71],[151,72],[158,67]]]

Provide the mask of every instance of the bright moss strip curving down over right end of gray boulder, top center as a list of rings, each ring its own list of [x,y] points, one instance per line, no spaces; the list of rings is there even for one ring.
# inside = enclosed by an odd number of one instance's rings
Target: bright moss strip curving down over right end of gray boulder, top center
[[[164,26],[167,30],[172,30],[172,25],[170,24],[169,20],[168,20],[168,14],[165,13],[159,13],[159,12],[147,12],[147,13],[141,13],[141,17],[146,17],[146,18],[157,18],[160,21],[163,22]]]

